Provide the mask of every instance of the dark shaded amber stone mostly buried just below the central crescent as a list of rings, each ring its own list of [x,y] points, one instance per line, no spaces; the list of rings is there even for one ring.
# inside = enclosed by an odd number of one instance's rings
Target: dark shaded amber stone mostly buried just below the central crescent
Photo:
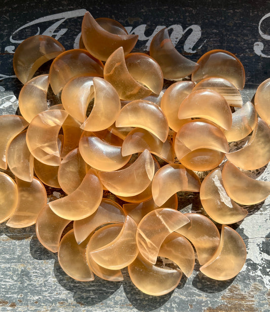
[[[171,208],[177,209],[178,199],[177,194],[174,194],[172,197],[168,199],[162,206],[158,206],[152,198],[145,202],[141,203],[133,203],[133,204],[124,204],[123,210],[126,215],[132,217],[132,219],[139,224],[141,219],[149,212],[159,209],[159,208]]]

